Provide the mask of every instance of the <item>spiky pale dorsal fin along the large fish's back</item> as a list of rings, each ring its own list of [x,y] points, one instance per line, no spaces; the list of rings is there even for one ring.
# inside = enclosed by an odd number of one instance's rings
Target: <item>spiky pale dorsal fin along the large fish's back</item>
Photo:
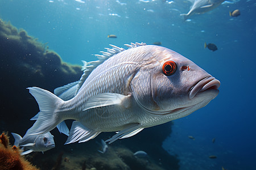
[[[80,90],[80,88],[82,87],[82,84],[84,84],[84,82],[85,82],[86,78],[88,78],[89,74],[92,73],[92,71],[98,65],[101,65],[101,63],[103,63],[104,61],[106,61],[110,57],[112,57],[115,54],[120,53],[120,52],[125,50],[123,48],[120,48],[120,47],[112,45],[112,44],[109,44],[109,45],[112,46],[112,49],[105,48],[107,50],[107,52],[101,52],[102,55],[99,55],[99,54],[95,54],[94,55],[94,56],[96,56],[98,58],[98,60],[90,61],[90,62],[82,61],[82,63],[84,63],[84,66],[82,66],[81,70],[84,71],[84,74],[82,74],[82,76],[81,76],[81,78],[79,80],[79,84],[77,86],[77,90],[76,90],[75,95]],[[142,45],[147,45],[147,44],[144,43],[144,42],[141,42],[141,43],[135,42],[135,44],[133,42],[131,42],[131,45],[125,44],[125,46],[127,46],[128,48],[135,48],[137,46],[142,46]]]

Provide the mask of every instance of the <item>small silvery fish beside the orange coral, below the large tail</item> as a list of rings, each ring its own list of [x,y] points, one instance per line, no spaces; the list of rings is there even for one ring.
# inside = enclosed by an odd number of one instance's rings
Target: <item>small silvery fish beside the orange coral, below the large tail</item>
[[[15,139],[14,145],[22,147],[23,152],[21,155],[30,154],[31,152],[44,152],[55,147],[53,135],[49,132],[42,135],[25,134],[23,138],[19,134],[11,134]]]

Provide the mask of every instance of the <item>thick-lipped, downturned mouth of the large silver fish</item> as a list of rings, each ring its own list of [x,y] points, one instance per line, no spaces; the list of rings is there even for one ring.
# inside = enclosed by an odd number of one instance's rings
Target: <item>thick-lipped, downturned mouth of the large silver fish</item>
[[[192,86],[188,92],[189,99],[195,97],[199,92],[204,92],[208,90],[215,90],[218,92],[218,88],[220,87],[220,81],[215,79],[213,76],[207,76],[197,82],[194,86]]]

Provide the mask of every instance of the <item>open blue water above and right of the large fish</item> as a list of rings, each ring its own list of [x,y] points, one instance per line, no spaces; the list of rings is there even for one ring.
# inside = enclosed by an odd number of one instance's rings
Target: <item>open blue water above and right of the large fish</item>
[[[175,120],[163,147],[179,156],[180,169],[255,169],[256,1],[224,3],[184,22],[179,15],[189,6],[178,0],[13,0],[0,2],[0,18],[47,43],[63,61],[79,65],[96,59],[92,54],[108,44],[125,48],[130,42],[161,41],[183,54],[220,80],[220,94]],[[237,8],[241,15],[230,18],[229,11]],[[117,39],[108,39],[109,34]],[[204,49],[204,42],[218,50]]]

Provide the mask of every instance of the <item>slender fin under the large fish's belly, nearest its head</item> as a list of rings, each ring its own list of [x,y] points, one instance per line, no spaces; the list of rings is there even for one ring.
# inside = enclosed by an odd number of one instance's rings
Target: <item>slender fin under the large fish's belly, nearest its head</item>
[[[117,139],[131,137],[131,136],[139,133],[142,130],[143,130],[143,128],[141,127],[141,124],[130,124],[128,126],[128,128],[119,131],[117,134],[113,135],[112,138],[109,138],[105,142],[109,142],[109,144],[110,144],[114,141],[117,141]]]

